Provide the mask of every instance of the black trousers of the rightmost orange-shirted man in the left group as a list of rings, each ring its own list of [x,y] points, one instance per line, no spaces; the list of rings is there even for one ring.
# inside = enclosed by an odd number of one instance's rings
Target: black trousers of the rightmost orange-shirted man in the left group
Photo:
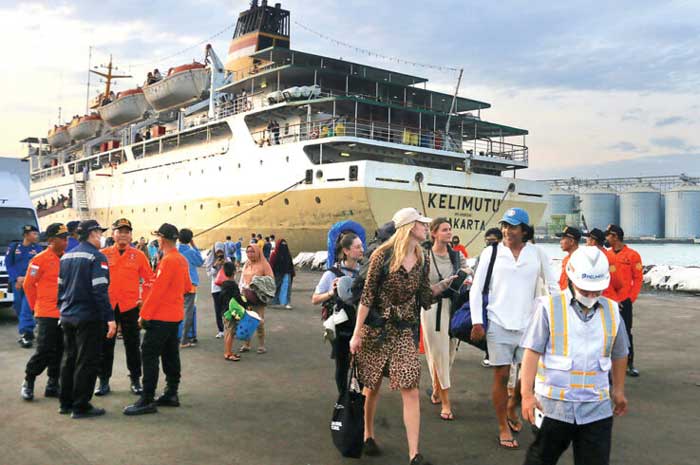
[[[148,321],[145,324],[141,359],[143,360],[143,396],[153,400],[158,386],[158,362],[163,361],[163,372],[168,391],[177,392],[180,384],[180,341],[177,328],[180,322]]]

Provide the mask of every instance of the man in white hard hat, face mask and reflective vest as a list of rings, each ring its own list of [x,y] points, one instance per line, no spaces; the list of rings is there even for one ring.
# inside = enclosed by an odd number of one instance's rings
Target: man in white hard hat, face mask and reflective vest
[[[544,413],[525,465],[554,465],[572,442],[575,463],[607,465],[613,415],[627,411],[628,341],[617,304],[601,296],[605,254],[581,247],[566,272],[569,286],[537,300],[521,342],[523,418],[535,424],[535,408]]]

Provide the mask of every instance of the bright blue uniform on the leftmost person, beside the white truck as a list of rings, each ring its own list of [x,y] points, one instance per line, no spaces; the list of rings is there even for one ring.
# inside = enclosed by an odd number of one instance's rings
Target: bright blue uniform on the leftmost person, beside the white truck
[[[19,320],[18,331],[20,335],[27,334],[30,338],[33,337],[36,323],[34,322],[29,302],[24,296],[24,290],[21,287],[17,289],[15,284],[17,283],[17,278],[27,274],[29,262],[42,250],[44,248],[39,244],[25,246],[21,242],[13,242],[7,248],[7,256],[5,257],[5,266],[10,279],[10,289],[14,294],[12,307],[15,309],[15,314],[17,314],[17,319]]]

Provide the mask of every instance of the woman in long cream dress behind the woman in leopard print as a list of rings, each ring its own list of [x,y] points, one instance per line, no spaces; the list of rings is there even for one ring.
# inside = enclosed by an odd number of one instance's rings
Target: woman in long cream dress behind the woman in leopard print
[[[431,284],[439,283],[445,277],[456,275],[459,270],[468,269],[464,256],[450,248],[452,226],[447,218],[436,218],[430,223],[430,238],[432,247],[428,256],[430,258]],[[471,273],[471,270],[469,272]],[[430,402],[441,405],[440,418],[446,421],[452,421],[455,418],[450,402],[450,371],[457,347],[457,341],[450,337],[452,305],[453,297],[451,294],[441,295],[437,303],[421,313],[425,358],[432,381]]]

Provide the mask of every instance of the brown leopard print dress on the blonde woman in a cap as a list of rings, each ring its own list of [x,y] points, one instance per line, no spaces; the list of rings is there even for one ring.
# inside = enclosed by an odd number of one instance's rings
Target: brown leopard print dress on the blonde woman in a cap
[[[418,324],[416,296],[420,306],[430,308],[430,262],[416,263],[407,272],[403,266],[381,279],[385,251],[377,251],[370,259],[365,287],[360,303],[375,307],[390,321]],[[380,288],[381,286],[381,288]],[[384,333],[384,334],[382,334]],[[418,348],[411,328],[399,329],[387,322],[384,328],[362,327],[362,348],[357,354],[359,377],[369,389],[376,389],[382,375],[389,376],[391,389],[417,388],[420,381]]]

